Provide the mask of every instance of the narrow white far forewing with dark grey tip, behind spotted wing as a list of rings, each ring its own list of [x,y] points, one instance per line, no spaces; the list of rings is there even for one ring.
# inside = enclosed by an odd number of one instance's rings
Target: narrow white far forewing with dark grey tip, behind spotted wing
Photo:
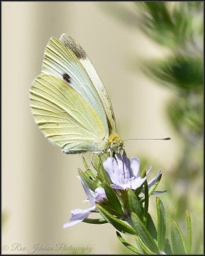
[[[87,72],[87,75],[92,80],[92,84],[94,84],[97,92],[98,97],[100,97],[104,110],[107,115],[107,119],[109,122],[109,127],[111,127],[111,131],[116,131],[116,124],[115,124],[115,115],[113,112],[113,107],[111,105],[111,101],[109,99],[109,96],[105,90],[105,87],[102,84],[102,81],[96,72],[96,69],[94,68],[92,62],[90,61],[89,57],[87,56],[87,53],[83,50],[81,45],[74,40],[71,36],[68,36],[67,34],[62,34],[61,38],[59,39],[61,42],[63,42],[66,47],[72,50],[73,53],[78,57],[81,64],[83,64],[83,67],[85,68],[85,71]],[[110,132],[111,133],[111,132]]]

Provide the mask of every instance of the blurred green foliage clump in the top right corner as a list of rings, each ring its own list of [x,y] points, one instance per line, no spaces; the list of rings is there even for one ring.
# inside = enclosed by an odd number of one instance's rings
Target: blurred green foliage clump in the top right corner
[[[141,12],[141,29],[169,48],[182,47],[202,36],[202,2],[135,2]]]

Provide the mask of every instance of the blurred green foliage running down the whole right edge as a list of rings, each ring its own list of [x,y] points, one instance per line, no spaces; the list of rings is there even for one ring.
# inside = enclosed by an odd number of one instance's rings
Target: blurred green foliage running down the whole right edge
[[[118,15],[114,11],[117,5]],[[168,51],[163,59],[152,60],[150,57],[142,67],[146,75],[176,95],[165,108],[170,125],[182,140],[183,149],[180,160],[173,164],[172,172],[166,173],[163,179],[166,180],[164,188],[169,188],[165,209],[169,220],[182,223],[184,212],[189,209],[194,227],[192,253],[202,253],[203,2],[147,1],[103,7],[124,24],[140,27],[149,38]]]

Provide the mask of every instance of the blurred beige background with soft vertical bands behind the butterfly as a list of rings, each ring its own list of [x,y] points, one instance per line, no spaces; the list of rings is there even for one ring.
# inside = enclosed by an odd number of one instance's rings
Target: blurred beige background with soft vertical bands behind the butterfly
[[[41,71],[51,36],[70,34],[87,51],[113,103],[121,138],[174,138],[126,142],[129,157],[146,155],[155,172],[160,167],[168,172],[179,155],[180,138],[163,108],[173,95],[139,68],[142,60],[166,53],[141,31],[112,18],[105,5],[115,8],[115,3],[102,2],[2,2],[3,253],[31,253],[34,244],[47,247],[36,253],[61,253],[49,250],[57,243],[90,246],[90,253],[124,252],[109,225],[62,229],[71,209],[87,205],[76,177],[81,155],[66,155],[49,144],[29,108],[31,81]],[[154,159],[160,166],[154,166]],[[64,253],[73,253],[69,250]]]

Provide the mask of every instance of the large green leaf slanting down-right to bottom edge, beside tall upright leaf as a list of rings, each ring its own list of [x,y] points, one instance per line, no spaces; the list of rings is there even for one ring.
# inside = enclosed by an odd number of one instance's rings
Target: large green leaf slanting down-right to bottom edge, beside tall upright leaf
[[[152,235],[146,228],[146,226],[141,222],[140,218],[137,216],[137,214],[132,213],[131,218],[133,221],[133,227],[137,231],[137,235],[139,235],[139,238],[141,241],[148,246],[148,248],[153,251],[154,253],[159,253],[159,248],[154,241],[154,238],[152,238]]]

